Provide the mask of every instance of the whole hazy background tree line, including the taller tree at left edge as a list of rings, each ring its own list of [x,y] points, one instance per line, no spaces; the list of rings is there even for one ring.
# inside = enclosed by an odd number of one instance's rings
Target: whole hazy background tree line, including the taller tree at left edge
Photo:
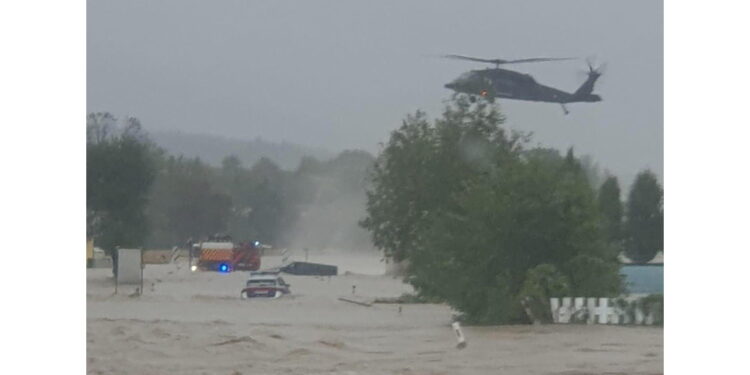
[[[268,158],[245,167],[232,155],[211,166],[199,158],[168,155],[135,118],[118,121],[109,113],[92,113],[87,117],[87,233],[108,253],[117,246],[183,246],[215,233],[276,246],[352,245],[361,241],[347,236],[359,234],[367,241],[357,227],[359,217],[336,214],[351,202],[363,211],[373,160],[355,150],[326,161],[305,157],[293,171]],[[334,230],[297,235],[321,212]]]

